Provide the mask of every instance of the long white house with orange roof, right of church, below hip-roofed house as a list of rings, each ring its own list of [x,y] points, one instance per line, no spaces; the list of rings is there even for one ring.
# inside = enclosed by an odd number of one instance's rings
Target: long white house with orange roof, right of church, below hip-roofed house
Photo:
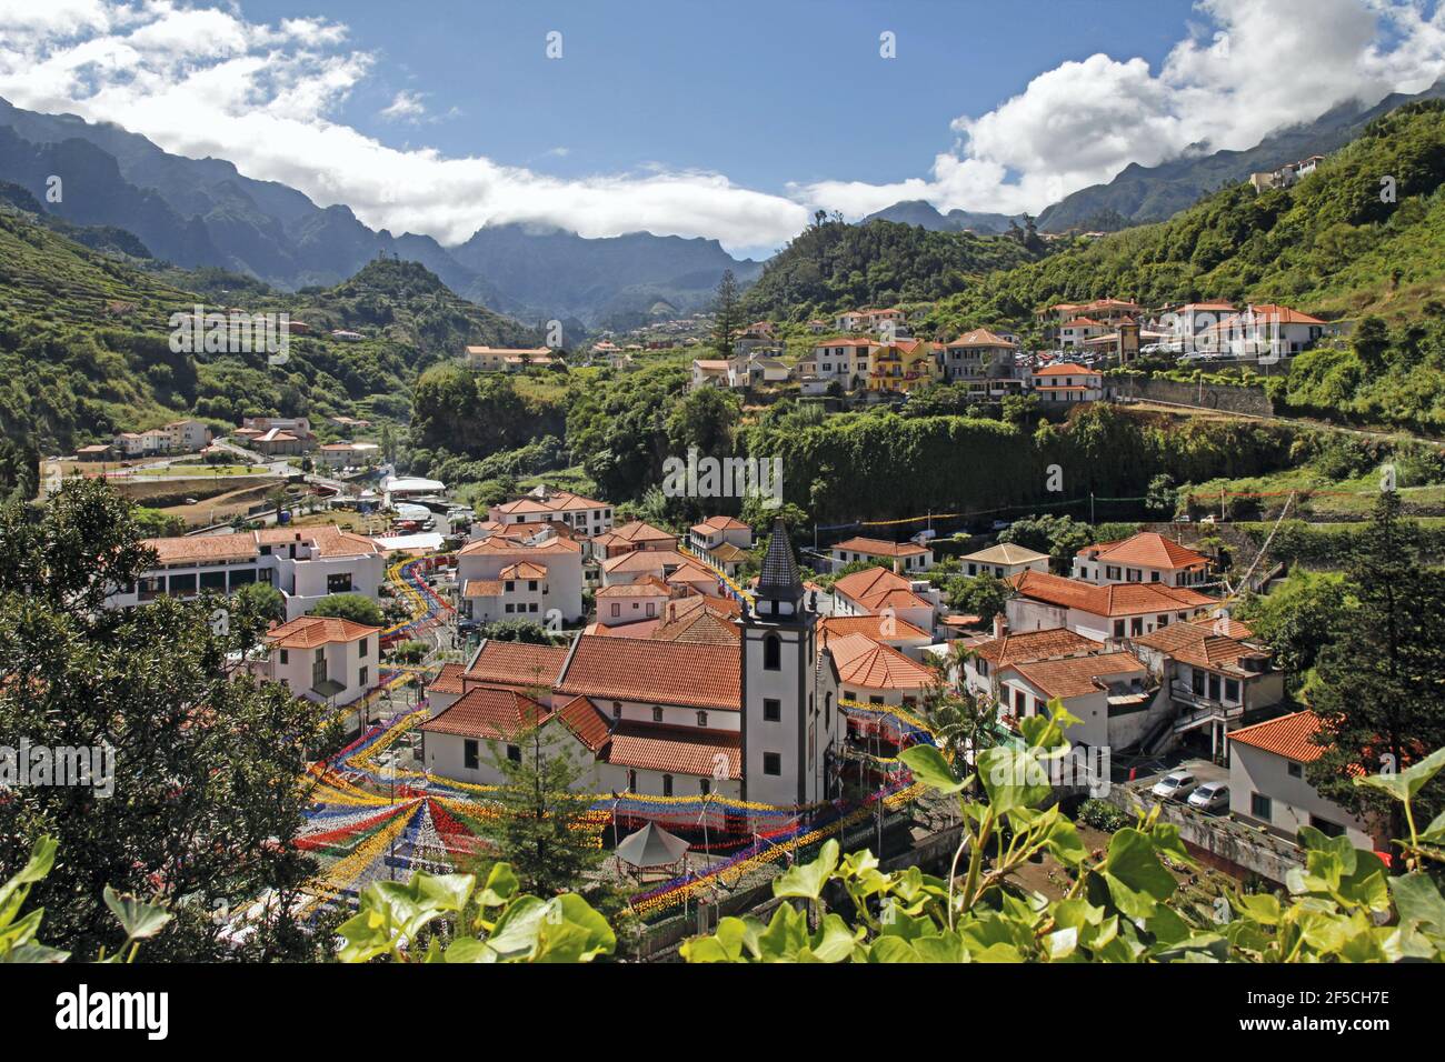
[[[1159,582],[1094,585],[1027,571],[1009,579],[1014,595],[1004,605],[1016,631],[1066,627],[1095,642],[1121,642],[1159,627],[1186,623],[1218,605],[1188,587]]]

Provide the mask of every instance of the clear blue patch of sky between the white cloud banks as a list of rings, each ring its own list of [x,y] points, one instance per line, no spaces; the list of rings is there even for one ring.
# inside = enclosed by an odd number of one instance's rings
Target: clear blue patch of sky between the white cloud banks
[[[1111,51],[1159,62],[1189,0],[1036,3],[475,3],[397,17],[389,3],[246,3],[266,20],[299,10],[344,20],[376,48],[374,85],[344,110],[389,143],[481,152],[565,176],[659,162],[783,192],[789,182],[903,181],[983,114],[1065,59]],[[562,58],[545,35],[562,33]],[[879,35],[897,35],[883,61]],[[377,117],[393,94],[434,117]],[[566,150],[564,157],[551,155]]]

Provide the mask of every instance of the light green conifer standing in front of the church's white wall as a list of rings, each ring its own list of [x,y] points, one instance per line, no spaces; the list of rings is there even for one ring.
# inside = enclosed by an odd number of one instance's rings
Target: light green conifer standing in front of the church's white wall
[[[501,808],[490,821],[491,839],[522,889],[543,897],[578,892],[587,871],[603,861],[601,824],[588,816],[591,800],[571,792],[584,767],[553,744],[556,725],[513,738],[520,750],[514,760],[504,743],[491,743],[491,760],[506,779],[497,792]]]

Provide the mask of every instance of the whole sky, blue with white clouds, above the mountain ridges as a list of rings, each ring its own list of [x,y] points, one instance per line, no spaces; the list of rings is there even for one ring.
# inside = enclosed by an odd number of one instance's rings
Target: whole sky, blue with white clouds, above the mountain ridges
[[[0,0],[0,95],[444,244],[533,221],[756,256],[819,208],[1038,212],[1419,91],[1442,4]]]

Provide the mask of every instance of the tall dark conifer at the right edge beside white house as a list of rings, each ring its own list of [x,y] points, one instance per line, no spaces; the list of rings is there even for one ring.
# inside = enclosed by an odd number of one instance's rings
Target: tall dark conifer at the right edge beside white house
[[[1400,496],[1386,491],[1358,536],[1348,587],[1358,605],[1319,650],[1315,743],[1324,754],[1308,777],[1321,796],[1355,813],[1383,812],[1390,837],[1406,837],[1403,808],[1354,774],[1381,763],[1396,770],[1445,746],[1445,572],[1428,568],[1419,527],[1400,520]],[[1428,821],[1441,812],[1436,780],[1416,796]],[[1396,870],[1403,851],[1396,845]]]

